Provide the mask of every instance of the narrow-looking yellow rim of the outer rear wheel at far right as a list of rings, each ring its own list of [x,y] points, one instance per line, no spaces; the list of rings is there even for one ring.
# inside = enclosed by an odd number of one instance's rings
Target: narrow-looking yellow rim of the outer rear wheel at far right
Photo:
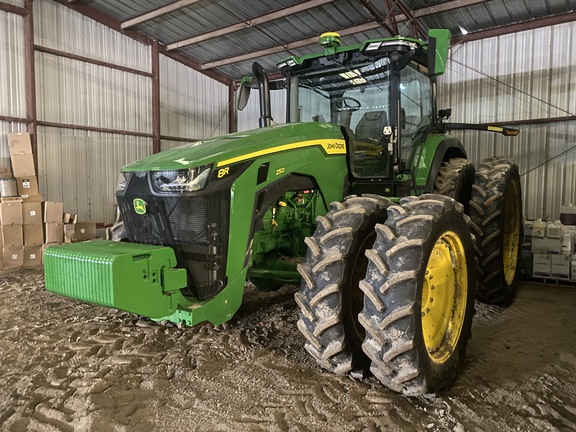
[[[512,285],[518,264],[520,247],[520,203],[518,202],[518,184],[510,182],[504,192],[504,211],[502,213],[502,265],[507,285]]]

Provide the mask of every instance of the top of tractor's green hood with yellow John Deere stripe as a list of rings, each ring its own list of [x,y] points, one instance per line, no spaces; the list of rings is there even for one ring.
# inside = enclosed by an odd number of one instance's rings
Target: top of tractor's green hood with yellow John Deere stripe
[[[122,171],[172,170],[211,163],[219,166],[290,150],[290,144],[306,145],[314,140],[341,143],[342,139],[340,127],[331,123],[289,123],[186,144],[133,162]],[[337,153],[344,153],[342,146]]]

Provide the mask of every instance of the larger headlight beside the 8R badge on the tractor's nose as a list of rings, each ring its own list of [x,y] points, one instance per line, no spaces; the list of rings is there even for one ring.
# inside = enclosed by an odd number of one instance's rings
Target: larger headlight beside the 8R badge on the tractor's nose
[[[211,165],[181,170],[152,172],[156,192],[195,192],[204,189],[210,177]]]

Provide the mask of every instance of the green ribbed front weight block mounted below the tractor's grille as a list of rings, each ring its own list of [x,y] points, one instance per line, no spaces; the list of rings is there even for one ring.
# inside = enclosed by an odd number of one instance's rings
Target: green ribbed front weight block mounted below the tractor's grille
[[[96,240],[44,253],[46,289],[151,318],[176,311],[186,270],[169,247]]]

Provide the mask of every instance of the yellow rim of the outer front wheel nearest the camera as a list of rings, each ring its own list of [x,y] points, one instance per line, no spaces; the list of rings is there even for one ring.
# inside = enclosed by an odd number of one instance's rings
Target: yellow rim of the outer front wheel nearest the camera
[[[426,265],[422,289],[422,333],[430,358],[450,358],[464,324],[468,298],[468,268],[460,237],[446,231],[440,236]]]

